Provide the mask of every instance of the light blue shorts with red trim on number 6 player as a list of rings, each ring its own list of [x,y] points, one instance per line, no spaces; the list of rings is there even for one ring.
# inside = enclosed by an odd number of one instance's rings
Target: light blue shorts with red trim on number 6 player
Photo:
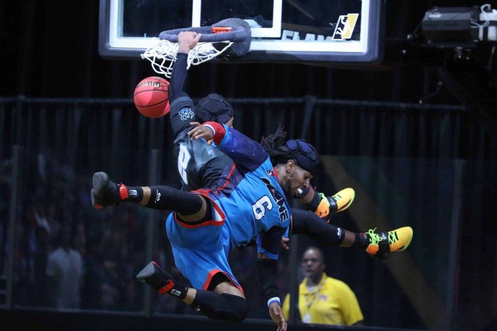
[[[173,212],[166,219],[167,238],[176,267],[194,288],[206,290],[212,277],[223,272],[243,293],[228,264],[230,235],[224,219],[214,202],[212,220],[197,225],[181,222]]]

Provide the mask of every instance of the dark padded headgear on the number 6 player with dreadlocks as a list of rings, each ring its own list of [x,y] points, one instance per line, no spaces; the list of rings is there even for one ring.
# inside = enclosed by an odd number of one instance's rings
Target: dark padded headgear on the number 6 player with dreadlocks
[[[319,165],[318,152],[316,152],[314,146],[307,143],[305,140],[288,140],[283,146],[278,147],[277,150],[279,152],[284,152],[284,154],[281,154],[278,157],[280,161],[283,161],[285,157],[286,161],[292,159],[297,165],[311,173],[313,173],[316,166]]]

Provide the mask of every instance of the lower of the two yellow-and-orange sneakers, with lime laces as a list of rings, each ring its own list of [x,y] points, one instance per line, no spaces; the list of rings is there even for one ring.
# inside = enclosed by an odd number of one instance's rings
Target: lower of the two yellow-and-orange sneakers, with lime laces
[[[403,227],[389,232],[375,233],[376,228],[369,230],[369,245],[366,251],[373,256],[384,256],[393,251],[408,248],[413,240],[413,228]]]

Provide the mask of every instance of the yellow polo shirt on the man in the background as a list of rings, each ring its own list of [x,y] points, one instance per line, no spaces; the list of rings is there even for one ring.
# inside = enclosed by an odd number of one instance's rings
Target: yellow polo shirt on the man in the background
[[[312,324],[352,325],[362,321],[361,308],[354,292],[341,280],[327,277],[323,273],[321,283],[311,292],[306,281],[299,286],[299,311],[302,322]],[[324,282],[323,282],[324,280]],[[318,292],[319,291],[319,292]],[[313,300],[314,298],[314,300]],[[309,307],[308,307],[309,306]],[[290,294],[283,301],[283,314],[288,318]]]

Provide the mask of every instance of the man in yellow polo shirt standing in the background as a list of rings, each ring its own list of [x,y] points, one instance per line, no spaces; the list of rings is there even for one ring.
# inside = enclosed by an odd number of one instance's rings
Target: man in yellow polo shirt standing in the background
[[[328,277],[323,251],[309,247],[302,256],[306,278],[299,286],[299,311],[303,323],[362,325],[361,308],[354,292],[341,280]],[[288,318],[290,294],[283,301],[283,314]]]

